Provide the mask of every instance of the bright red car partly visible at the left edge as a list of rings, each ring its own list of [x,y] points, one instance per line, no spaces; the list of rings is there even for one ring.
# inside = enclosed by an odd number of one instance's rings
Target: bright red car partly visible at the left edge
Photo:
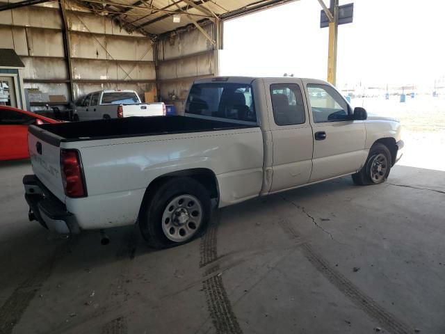
[[[29,158],[28,126],[58,122],[29,111],[0,106],[0,161]]]

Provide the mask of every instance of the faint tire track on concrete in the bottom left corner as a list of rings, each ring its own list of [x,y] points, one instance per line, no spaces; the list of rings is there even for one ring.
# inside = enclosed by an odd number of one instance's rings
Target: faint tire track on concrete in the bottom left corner
[[[6,299],[0,308],[0,334],[13,332],[15,325],[19,323],[35,294],[37,294],[47,278],[51,276],[54,264],[67,253],[70,246],[72,246],[72,243],[65,241],[64,244],[56,247],[51,258],[44,262],[37,271],[31,273],[29,278],[20,283],[15,288],[13,294]]]

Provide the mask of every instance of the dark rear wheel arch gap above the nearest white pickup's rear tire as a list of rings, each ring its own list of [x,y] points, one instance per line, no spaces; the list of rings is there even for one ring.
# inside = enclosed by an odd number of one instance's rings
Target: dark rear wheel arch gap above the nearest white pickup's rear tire
[[[148,184],[147,189],[145,189],[143,200],[139,209],[139,215],[145,208],[145,205],[149,203],[150,198],[154,196],[154,193],[156,193],[156,189],[158,189],[161,184],[175,177],[191,177],[197,182],[200,182],[200,184],[202,184],[204,188],[209,191],[210,198],[216,199],[218,205],[220,193],[218,179],[216,178],[215,173],[213,173],[213,170],[209,168],[190,168],[159,175],[152,180],[152,182]]]

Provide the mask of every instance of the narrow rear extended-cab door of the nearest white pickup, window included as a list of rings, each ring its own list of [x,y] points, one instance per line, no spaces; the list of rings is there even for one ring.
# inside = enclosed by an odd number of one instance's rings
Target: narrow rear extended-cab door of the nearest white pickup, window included
[[[264,79],[273,141],[270,192],[309,182],[312,171],[312,127],[300,79]]]

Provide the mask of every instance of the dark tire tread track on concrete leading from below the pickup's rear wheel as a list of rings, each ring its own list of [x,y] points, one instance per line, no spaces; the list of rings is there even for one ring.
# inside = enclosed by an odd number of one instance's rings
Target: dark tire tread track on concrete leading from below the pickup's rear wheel
[[[218,260],[217,234],[222,211],[218,212],[216,219],[212,220],[207,233],[201,238],[200,267]],[[220,270],[219,264],[204,271],[204,277]],[[202,287],[206,295],[207,308],[217,334],[242,334],[238,319],[232,310],[227,292],[223,284],[221,274],[210,276],[202,281]]]

